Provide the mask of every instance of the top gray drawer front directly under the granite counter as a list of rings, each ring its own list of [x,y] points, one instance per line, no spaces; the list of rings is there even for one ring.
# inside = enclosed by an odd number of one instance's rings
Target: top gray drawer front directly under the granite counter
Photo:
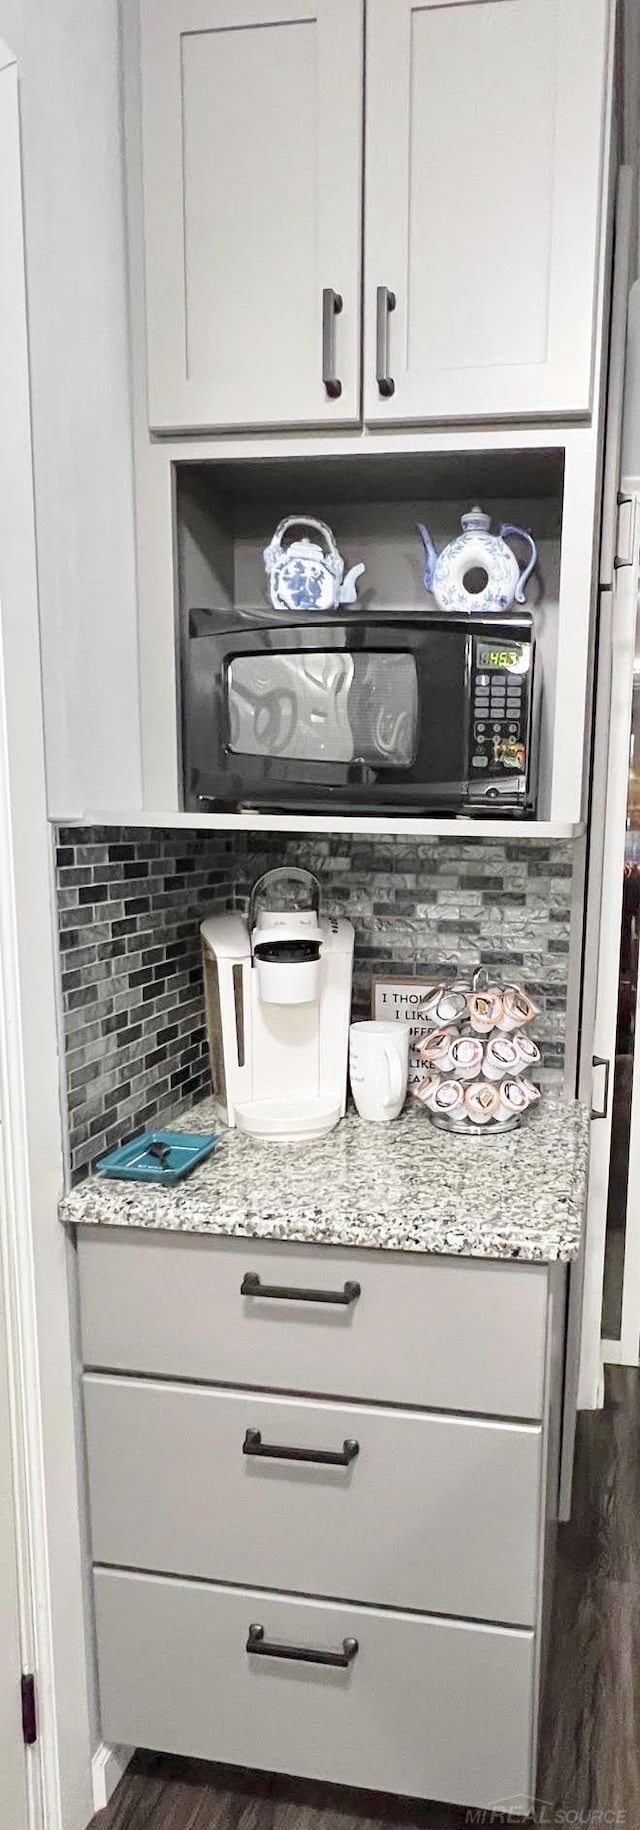
[[[547,1268],[79,1230],[88,1367],[539,1418]],[[261,1286],[315,1299],[241,1294]],[[353,1301],[325,1303],[320,1292]],[[353,1294],[353,1292],[351,1292]]]

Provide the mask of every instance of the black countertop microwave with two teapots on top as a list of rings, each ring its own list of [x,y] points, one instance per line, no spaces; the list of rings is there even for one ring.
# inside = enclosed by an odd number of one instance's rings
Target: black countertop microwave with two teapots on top
[[[194,609],[185,805],[534,814],[534,675],[527,613]]]

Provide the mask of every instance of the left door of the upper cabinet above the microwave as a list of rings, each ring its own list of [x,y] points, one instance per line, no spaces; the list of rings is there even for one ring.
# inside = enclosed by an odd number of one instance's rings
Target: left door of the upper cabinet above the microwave
[[[150,425],[357,423],[362,0],[143,0],[141,70]]]

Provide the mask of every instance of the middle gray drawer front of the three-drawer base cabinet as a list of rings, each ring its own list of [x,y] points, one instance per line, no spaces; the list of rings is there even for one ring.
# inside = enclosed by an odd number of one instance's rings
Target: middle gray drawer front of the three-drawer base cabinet
[[[97,1563],[536,1621],[539,1426],[101,1374],[84,1415]]]

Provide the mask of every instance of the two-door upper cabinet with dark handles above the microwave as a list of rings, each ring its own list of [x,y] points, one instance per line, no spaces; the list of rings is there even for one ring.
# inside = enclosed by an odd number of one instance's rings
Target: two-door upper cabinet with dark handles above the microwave
[[[155,432],[591,412],[611,0],[139,4]]]

